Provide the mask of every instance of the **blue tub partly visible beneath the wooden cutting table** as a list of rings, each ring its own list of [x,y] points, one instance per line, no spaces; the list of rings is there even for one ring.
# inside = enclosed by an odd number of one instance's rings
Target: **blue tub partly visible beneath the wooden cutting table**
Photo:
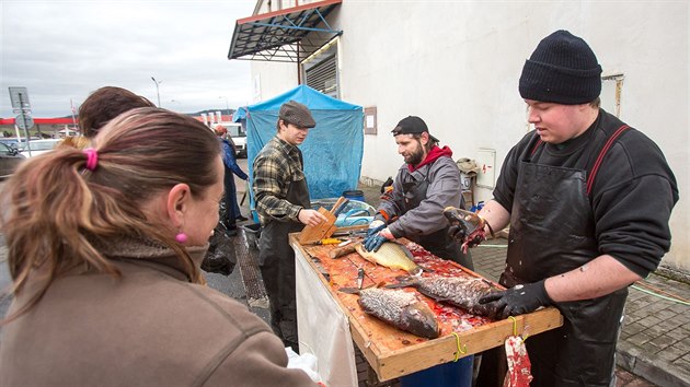
[[[472,362],[474,356],[464,356],[457,362],[439,364],[400,378],[401,387],[470,387],[472,386]]]

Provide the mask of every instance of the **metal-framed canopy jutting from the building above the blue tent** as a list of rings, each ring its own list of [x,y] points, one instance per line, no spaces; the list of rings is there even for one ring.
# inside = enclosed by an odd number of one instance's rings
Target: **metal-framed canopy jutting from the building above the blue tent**
[[[342,2],[317,1],[238,20],[228,59],[300,62],[343,34],[325,20]]]

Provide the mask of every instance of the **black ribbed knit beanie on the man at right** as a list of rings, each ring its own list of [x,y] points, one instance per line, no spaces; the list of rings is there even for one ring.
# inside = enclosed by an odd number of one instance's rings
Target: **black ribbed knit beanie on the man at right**
[[[525,61],[519,89],[525,99],[590,103],[601,93],[601,66],[585,40],[560,30],[544,37]]]

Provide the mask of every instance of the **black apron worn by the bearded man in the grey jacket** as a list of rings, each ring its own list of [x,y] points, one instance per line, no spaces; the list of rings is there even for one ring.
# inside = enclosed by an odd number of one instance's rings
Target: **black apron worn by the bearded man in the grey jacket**
[[[428,171],[427,176],[423,179],[402,184],[405,212],[419,207],[419,203],[426,199],[426,191],[429,187],[427,178]],[[458,187],[458,189],[460,189],[460,187]],[[460,206],[463,207],[463,203],[461,202]],[[468,251],[468,254],[462,254],[460,244],[448,235],[449,227],[450,225],[447,225],[444,228],[428,235],[410,236],[410,239],[419,244],[427,251],[439,258],[452,260],[453,262],[460,263],[470,270],[474,270],[470,253]]]

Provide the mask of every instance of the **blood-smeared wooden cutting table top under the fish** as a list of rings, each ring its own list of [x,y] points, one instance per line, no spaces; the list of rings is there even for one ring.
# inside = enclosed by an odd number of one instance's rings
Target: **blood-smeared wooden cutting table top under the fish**
[[[353,340],[382,382],[451,362],[457,356],[462,357],[503,345],[505,339],[514,335],[514,331],[521,336],[533,336],[557,328],[563,324],[561,314],[554,307],[517,316],[515,322],[513,319],[493,321],[486,317],[469,315],[461,309],[437,304],[435,301],[419,295],[437,315],[440,314],[441,337],[433,340],[424,339],[367,315],[357,303],[357,295],[338,291],[341,288],[356,286],[358,267],[364,267],[367,272],[364,286],[381,282],[394,283],[396,282],[395,277],[406,274],[404,271],[391,270],[368,262],[357,253],[338,259],[331,259],[329,251],[335,246],[302,246],[297,236],[298,234],[290,234],[290,245],[297,253],[300,253],[298,256],[311,258],[307,260],[317,273],[327,273],[326,275],[319,275],[321,285],[325,286],[333,295],[340,308],[347,316]],[[428,251],[410,241],[401,238],[399,242],[410,247],[415,255],[424,251],[430,256]],[[416,257],[415,261],[426,267],[450,265],[452,270],[461,272],[462,275],[482,278],[455,262],[430,257],[425,262],[419,262],[418,257]],[[502,289],[501,285],[491,283]],[[442,321],[440,321],[441,317]],[[460,353],[458,353],[459,349]]]

